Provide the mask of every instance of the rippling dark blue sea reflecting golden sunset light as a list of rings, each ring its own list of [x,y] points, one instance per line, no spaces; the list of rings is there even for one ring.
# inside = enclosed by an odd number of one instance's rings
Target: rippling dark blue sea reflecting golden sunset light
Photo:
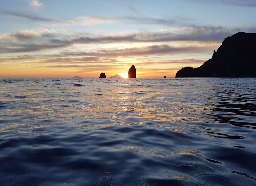
[[[0,79],[0,185],[256,185],[255,129],[256,78]]]

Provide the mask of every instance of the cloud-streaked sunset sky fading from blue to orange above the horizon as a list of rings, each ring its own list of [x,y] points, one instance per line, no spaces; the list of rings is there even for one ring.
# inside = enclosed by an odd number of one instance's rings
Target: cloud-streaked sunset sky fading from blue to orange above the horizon
[[[255,0],[0,0],[0,78],[175,77],[255,17]]]

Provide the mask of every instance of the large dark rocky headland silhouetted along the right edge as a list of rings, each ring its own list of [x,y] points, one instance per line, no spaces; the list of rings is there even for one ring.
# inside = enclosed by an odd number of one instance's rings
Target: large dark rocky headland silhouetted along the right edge
[[[227,37],[202,66],[180,69],[175,77],[256,77],[256,33]]]

